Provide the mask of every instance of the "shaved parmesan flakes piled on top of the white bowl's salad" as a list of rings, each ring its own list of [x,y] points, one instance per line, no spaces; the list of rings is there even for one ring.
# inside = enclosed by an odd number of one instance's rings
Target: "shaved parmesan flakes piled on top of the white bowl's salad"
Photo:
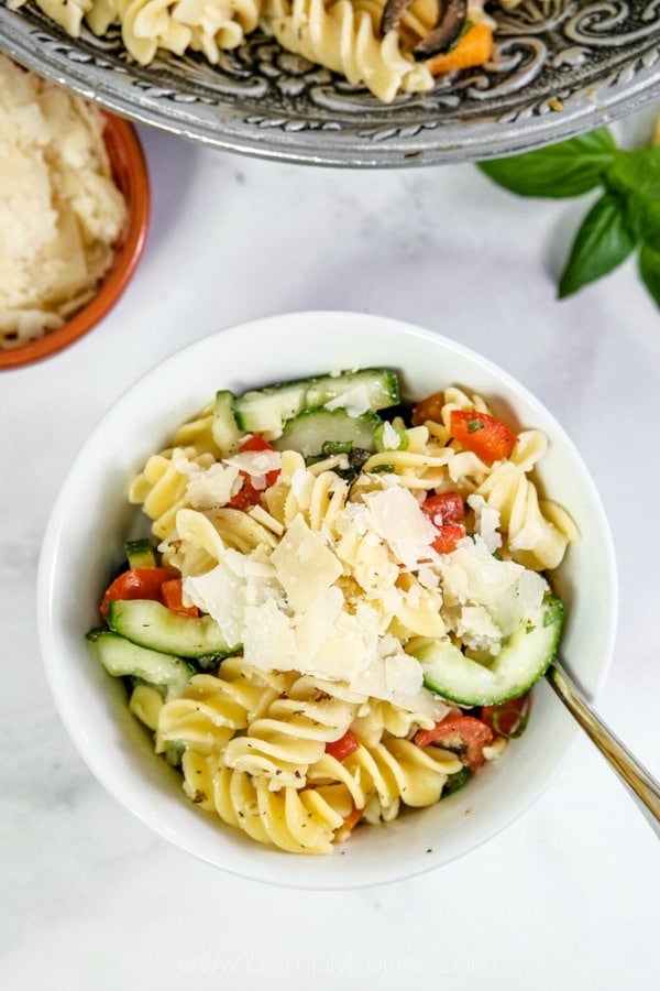
[[[229,491],[239,472],[275,470],[273,455],[245,451],[202,470],[179,454],[177,465],[190,475],[189,500],[200,504]],[[309,505],[316,476],[287,453],[284,461],[294,498]],[[275,548],[220,547],[216,568],[185,579],[186,601],[208,612],[229,643],[242,644],[254,667],[345,683],[441,718],[422,688],[419,662],[405,651],[406,638],[450,635],[495,655],[547,589],[536,573],[493,556],[499,513],[481,497],[469,503],[476,533],[443,555],[431,547],[436,527],[396,478],[384,476],[321,531],[301,512],[279,522],[260,509],[266,525],[274,524],[271,532],[279,531]]]

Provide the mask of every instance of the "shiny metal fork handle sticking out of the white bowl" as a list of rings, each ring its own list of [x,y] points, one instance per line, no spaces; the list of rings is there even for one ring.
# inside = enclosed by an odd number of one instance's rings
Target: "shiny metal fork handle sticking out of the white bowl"
[[[660,784],[596,715],[561,664],[551,664],[546,678],[660,836]]]

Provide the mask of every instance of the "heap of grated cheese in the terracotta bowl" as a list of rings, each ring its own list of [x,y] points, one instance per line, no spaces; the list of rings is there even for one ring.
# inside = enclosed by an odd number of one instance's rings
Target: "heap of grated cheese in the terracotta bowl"
[[[0,55],[0,347],[95,293],[127,219],[100,112]]]

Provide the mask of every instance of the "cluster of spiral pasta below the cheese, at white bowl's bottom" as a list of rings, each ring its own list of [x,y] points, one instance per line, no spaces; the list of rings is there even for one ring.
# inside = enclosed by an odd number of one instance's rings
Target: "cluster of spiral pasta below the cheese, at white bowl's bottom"
[[[229,658],[217,676],[193,676],[180,699],[162,706],[156,749],[184,748],[184,791],[196,805],[290,852],[329,852],[354,809],[367,821],[388,821],[402,803],[438,802],[461,761],[406,739],[432,720],[385,706],[356,718],[367,700],[337,684],[330,695],[328,687],[295,676],[278,693],[282,680],[264,684]],[[351,726],[364,742],[342,762],[326,744]]]

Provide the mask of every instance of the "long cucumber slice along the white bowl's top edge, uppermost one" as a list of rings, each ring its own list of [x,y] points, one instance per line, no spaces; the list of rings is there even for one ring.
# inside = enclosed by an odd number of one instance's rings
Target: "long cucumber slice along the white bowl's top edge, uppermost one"
[[[297,379],[243,393],[234,403],[234,414],[241,429],[274,440],[298,413],[340,398],[345,399],[346,406],[360,403],[362,410],[366,406],[372,412],[394,406],[399,402],[397,375],[389,369],[366,368]]]

